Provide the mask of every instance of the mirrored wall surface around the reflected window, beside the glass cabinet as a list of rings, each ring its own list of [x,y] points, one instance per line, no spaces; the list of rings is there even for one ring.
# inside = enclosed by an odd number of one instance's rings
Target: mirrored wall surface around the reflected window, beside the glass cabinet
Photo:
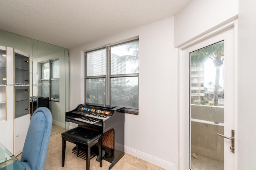
[[[42,41],[0,30],[0,45],[13,47],[30,55],[30,101],[32,107],[36,99],[42,95],[41,63],[59,59],[59,100],[49,100],[49,109],[52,112],[52,134],[65,130],[65,112],[69,111],[69,55],[68,49],[51,45]],[[50,83],[50,82],[49,82]],[[55,131],[56,130],[56,131]]]

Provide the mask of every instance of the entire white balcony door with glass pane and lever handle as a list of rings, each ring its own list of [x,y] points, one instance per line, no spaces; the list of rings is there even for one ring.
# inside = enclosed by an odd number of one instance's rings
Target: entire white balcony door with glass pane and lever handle
[[[182,169],[234,169],[234,54],[234,27],[182,49]]]

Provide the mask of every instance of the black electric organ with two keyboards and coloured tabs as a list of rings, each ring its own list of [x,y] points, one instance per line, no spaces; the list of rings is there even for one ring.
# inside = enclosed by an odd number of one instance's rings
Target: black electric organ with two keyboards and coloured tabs
[[[80,104],[66,112],[66,121],[103,133],[103,159],[111,169],[124,156],[124,107],[103,104]]]

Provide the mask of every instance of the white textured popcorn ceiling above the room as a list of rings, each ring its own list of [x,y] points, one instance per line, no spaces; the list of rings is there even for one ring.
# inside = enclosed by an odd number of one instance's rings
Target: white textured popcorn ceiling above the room
[[[189,0],[0,0],[0,29],[72,48],[162,20]]]

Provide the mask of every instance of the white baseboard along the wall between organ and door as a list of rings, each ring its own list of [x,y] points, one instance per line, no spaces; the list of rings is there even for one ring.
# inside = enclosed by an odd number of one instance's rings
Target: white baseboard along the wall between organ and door
[[[174,170],[174,164],[172,164],[171,162],[167,162],[166,160],[156,158],[155,156],[141,152],[139,150],[135,150],[133,148],[124,146],[124,152],[137,158],[140,158],[142,160],[145,160],[151,164],[159,166],[160,168],[164,168],[165,170]]]

